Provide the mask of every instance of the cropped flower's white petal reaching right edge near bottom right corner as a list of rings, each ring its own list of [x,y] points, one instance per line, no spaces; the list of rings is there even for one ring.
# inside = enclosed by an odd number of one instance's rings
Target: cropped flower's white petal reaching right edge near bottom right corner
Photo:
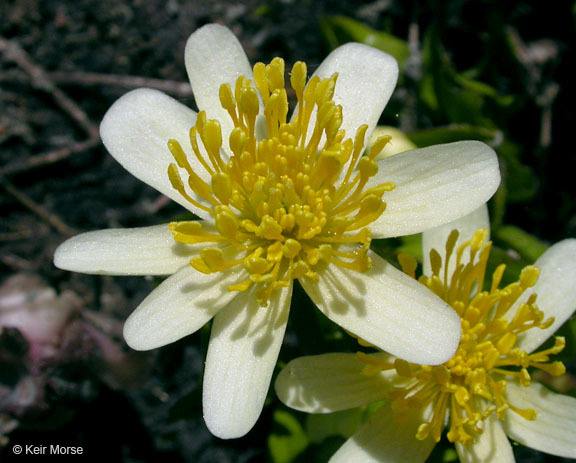
[[[512,405],[538,413],[534,421],[528,421],[506,412],[502,425],[509,437],[541,452],[576,458],[576,399],[555,394],[538,383],[524,387],[509,382],[506,396]]]

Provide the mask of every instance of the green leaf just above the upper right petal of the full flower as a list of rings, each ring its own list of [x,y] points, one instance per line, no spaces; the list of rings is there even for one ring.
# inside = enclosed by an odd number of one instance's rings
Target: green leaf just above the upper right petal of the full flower
[[[322,32],[332,48],[346,42],[360,42],[392,55],[402,69],[410,56],[408,43],[392,34],[377,31],[345,16],[331,16],[322,21]]]

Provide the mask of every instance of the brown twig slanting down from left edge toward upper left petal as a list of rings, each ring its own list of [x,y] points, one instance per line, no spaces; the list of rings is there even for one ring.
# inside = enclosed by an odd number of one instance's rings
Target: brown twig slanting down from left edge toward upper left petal
[[[16,41],[5,40],[0,37],[0,51],[30,76],[34,87],[50,93],[58,105],[86,131],[91,139],[98,137],[97,126],[90,120],[84,110],[54,85],[46,72],[32,61],[30,55]]]

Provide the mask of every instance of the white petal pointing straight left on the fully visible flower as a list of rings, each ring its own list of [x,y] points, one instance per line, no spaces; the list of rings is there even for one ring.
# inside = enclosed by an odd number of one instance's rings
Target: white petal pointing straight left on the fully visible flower
[[[64,241],[56,248],[54,265],[98,275],[171,275],[197,248],[174,241],[168,224],[98,230]]]

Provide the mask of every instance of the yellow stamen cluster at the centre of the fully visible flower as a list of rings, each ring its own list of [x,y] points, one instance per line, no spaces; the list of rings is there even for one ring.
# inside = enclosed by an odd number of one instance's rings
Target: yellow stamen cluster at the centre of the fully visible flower
[[[249,277],[228,289],[244,291],[257,284],[262,305],[294,278],[317,280],[320,265],[360,272],[371,265],[366,226],[384,212],[382,196],[394,185],[365,186],[377,173],[374,158],[390,137],[378,139],[365,156],[366,125],[354,140],[345,139],[342,107],[333,101],[336,79],[334,74],[306,82],[306,65],[296,63],[290,82],[298,110],[291,122],[286,119],[282,59],[254,66],[255,87],[245,77],[236,81],[234,91],[222,85],[220,102],[234,123],[232,155],[222,150],[217,120],[207,120],[200,112],[190,129],[193,155],[208,173],[208,182],[194,171],[182,146],[168,142],[176,160],[168,169],[172,186],[213,218],[171,223],[174,239],[212,243],[191,260],[200,272],[243,266]],[[259,136],[262,132],[266,135]]]

